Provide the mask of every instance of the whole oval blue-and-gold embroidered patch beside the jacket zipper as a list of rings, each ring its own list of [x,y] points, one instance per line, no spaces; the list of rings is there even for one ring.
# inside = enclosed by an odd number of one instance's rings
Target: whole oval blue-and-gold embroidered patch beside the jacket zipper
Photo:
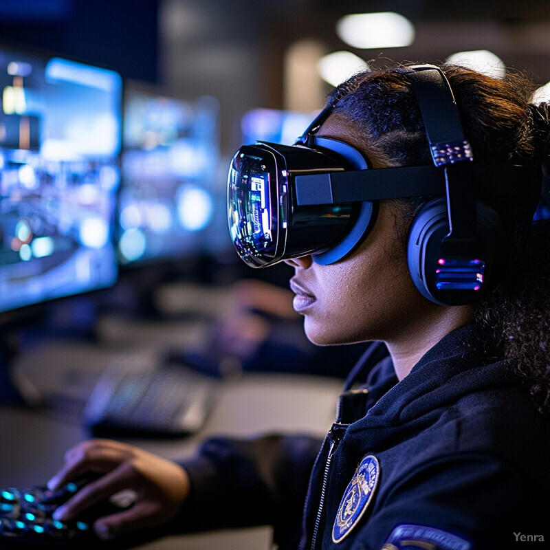
[[[364,456],[351,482],[347,486],[336,520],[332,527],[332,540],[340,542],[357,525],[369,506],[380,477],[380,464],[375,456]]]

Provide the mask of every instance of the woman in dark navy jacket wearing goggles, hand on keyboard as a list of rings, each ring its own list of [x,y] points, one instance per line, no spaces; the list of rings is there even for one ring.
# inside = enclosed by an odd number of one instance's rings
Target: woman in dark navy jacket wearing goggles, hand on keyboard
[[[529,83],[443,72],[476,161],[547,161],[549,111],[529,105]],[[351,144],[372,168],[432,164],[407,67],[353,76],[329,105],[316,135]],[[525,186],[536,190],[536,181]],[[285,260],[312,342],[376,340],[389,352],[371,347],[369,391],[342,395],[319,454],[320,443],[305,437],[219,438],[178,465],[88,441],[67,452],[50,487],[89,470],[104,476],[56,516],[134,487],[135,506],[98,520],[100,536],[270,523],[281,548],[500,549],[522,535],[549,540],[549,231],[531,226],[536,202],[496,199],[503,278],[481,301],[441,305],[419,292],[406,255],[429,199],[381,200],[373,227],[336,262]]]

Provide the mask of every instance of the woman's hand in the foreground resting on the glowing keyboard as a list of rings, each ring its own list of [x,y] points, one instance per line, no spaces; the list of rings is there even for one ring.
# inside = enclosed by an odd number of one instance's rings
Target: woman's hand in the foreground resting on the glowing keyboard
[[[168,522],[189,493],[189,478],[181,466],[109,439],[91,439],[68,450],[65,464],[50,479],[48,487],[58,489],[90,473],[104,475],[85,485],[56,509],[54,518],[69,520],[122,489],[132,489],[137,497],[131,508],[94,523],[96,533],[104,539]]]

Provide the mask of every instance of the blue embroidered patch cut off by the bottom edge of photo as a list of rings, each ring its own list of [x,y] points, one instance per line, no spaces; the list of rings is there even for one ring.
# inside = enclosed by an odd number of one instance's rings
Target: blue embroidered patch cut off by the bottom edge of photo
[[[424,525],[397,525],[382,550],[470,550],[472,544],[447,531]]]

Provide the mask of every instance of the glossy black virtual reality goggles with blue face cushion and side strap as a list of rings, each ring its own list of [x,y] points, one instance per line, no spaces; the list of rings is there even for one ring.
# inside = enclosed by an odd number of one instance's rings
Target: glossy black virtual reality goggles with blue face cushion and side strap
[[[351,155],[358,164],[366,160],[349,144],[318,137],[314,147],[257,142],[234,155],[228,178],[230,234],[248,265],[264,267],[307,254],[316,263],[336,262],[374,221],[376,201],[446,195],[448,169],[355,169]],[[489,178],[507,180],[500,189],[494,186],[500,195],[513,194],[525,182],[525,166],[467,168],[480,187],[487,188]]]

